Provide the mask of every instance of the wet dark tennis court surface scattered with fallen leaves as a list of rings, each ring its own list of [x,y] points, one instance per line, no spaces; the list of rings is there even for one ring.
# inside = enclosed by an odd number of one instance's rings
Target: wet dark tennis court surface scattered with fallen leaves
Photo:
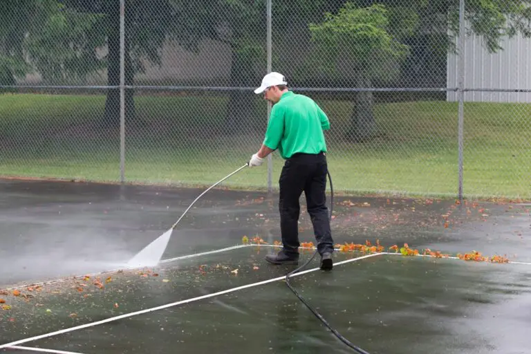
[[[125,268],[201,192],[0,182],[0,352],[353,353],[288,289],[294,268],[263,259],[280,240],[275,195],[213,189],[164,261]],[[371,354],[528,353],[530,208],[336,197],[334,270],[315,259],[291,283]],[[315,243],[304,207],[300,230]],[[474,250],[487,261],[457,257]]]

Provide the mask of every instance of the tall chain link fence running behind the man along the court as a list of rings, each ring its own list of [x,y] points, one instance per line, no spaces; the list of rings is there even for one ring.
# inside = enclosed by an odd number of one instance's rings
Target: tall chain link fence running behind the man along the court
[[[4,1],[0,174],[211,185],[261,146],[272,70],[328,114],[337,192],[530,198],[515,3]],[[282,165],[225,185],[275,189]]]

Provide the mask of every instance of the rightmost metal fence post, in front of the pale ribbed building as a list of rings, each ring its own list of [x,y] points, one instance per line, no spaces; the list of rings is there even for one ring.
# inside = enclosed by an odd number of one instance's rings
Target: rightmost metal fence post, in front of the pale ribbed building
[[[458,59],[458,197],[463,201],[463,126],[465,85],[465,0],[459,1],[459,59]]]

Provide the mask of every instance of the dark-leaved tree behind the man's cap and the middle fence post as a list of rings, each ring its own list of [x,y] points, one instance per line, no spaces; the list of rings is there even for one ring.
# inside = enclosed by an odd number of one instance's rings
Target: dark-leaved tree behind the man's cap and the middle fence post
[[[337,9],[337,3],[343,1],[272,1],[273,42],[285,36],[287,30],[306,28],[308,19],[321,19],[325,9]],[[256,95],[248,88],[259,86],[266,73],[266,0],[174,0],[174,6],[189,14],[183,19],[180,32],[174,35],[180,45],[196,50],[208,38],[230,47],[232,63],[227,86],[233,89],[227,101],[224,132],[236,133],[241,122],[254,114]]]

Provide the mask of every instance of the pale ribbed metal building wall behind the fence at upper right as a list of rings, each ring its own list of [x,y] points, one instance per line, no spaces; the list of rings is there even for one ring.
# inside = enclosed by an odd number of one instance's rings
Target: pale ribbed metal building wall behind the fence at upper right
[[[503,50],[490,54],[476,35],[465,41],[465,88],[531,90],[531,39],[515,36],[501,41]],[[458,57],[448,55],[447,87],[458,86]],[[455,92],[447,93],[456,101]],[[465,92],[467,102],[531,102],[531,93]]]

